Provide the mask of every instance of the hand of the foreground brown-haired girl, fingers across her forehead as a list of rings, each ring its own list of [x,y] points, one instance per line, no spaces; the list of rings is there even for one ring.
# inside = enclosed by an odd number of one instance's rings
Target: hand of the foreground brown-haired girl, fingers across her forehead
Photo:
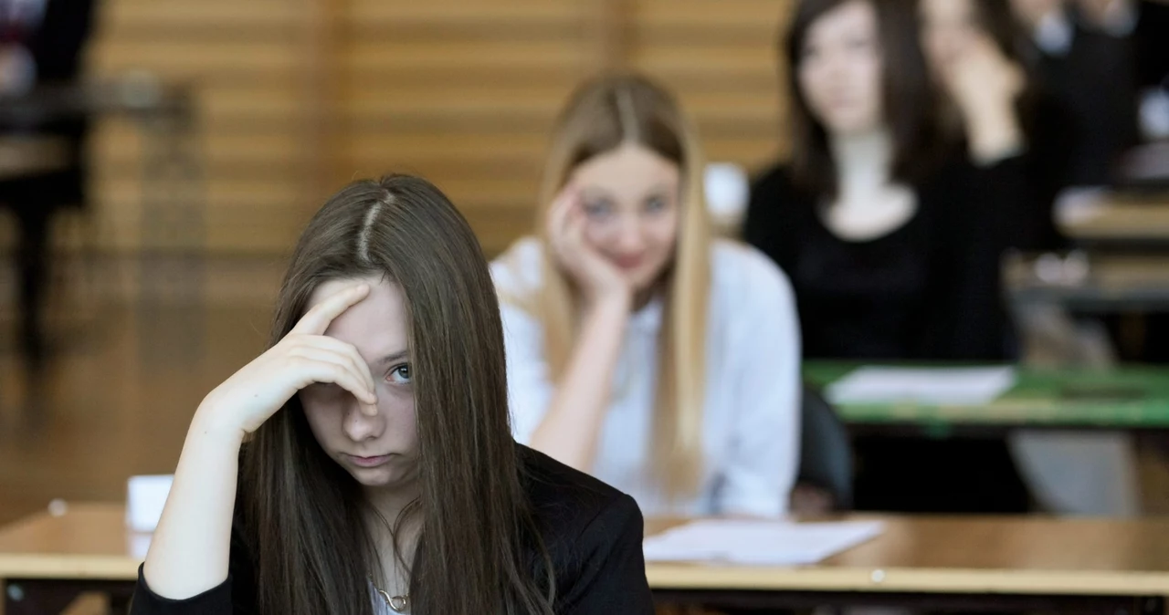
[[[325,335],[334,319],[368,294],[368,285],[354,285],[313,306],[283,340],[208,393],[196,412],[200,425],[242,436],[298,391],[318,383],[345,389],[362,412],[376,414],[373,376],[365,359],[353,345]]]

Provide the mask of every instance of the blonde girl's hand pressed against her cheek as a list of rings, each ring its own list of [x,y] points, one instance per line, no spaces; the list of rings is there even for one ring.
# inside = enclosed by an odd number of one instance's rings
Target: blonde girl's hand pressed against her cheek
[[[621,270],[584,237],[587,223],[580,187],[566,186],[548,209],[546,232],[552,257],[576,282],[589,305],[631,300],[632,289]]]

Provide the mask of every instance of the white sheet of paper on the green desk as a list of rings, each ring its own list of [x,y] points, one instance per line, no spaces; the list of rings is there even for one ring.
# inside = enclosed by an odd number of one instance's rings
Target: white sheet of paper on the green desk
[[[1015,385],[1015,368],[886,368],[853,370],[824,391],[833,404],[989,404]]]

